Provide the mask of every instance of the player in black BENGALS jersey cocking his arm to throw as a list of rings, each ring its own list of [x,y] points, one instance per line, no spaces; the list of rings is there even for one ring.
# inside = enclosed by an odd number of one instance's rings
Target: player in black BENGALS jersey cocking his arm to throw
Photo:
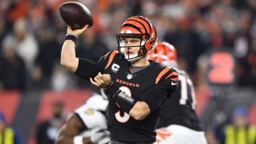
[[[148,61],[157,33],[143,16],[124,21],[117,34],[118,50],[98,62],[75,57],[77,37],[88,29],[67,29],[61,50],[61,65],[109,95],[110,143],[154,143],[159,107],[177,89],[178,73],[169,66]],[[173,85],[172,85],[173,83]]]

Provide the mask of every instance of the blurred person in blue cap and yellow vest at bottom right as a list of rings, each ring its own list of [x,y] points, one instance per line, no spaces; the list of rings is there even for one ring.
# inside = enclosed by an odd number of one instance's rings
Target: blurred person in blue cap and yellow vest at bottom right
[[[236,107],[232,112],[232,124],[224,127],[223,144],[254,144],[256,142],[256,126],[247,121],[248,111],[244,106]]]

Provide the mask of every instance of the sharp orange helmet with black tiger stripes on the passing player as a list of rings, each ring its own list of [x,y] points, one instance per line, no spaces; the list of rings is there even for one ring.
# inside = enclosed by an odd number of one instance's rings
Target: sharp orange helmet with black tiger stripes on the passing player
[[[118,51],[129,62],[137,61],[151,52],[156,45],[157,32],[151,20],[143,16],[132,16],[126,19],[120,28],[117,37]],[[125,46],[126,38],[140,39],[140,44]],[[125,53],[125,49],[138,47],[137,54]]]

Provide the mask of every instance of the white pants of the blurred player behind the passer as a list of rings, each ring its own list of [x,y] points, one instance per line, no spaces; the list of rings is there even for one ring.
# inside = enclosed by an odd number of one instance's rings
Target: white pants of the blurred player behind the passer
[[[206,144],[203,131],[195,131],[180,125],[157,129],[158,144]]]

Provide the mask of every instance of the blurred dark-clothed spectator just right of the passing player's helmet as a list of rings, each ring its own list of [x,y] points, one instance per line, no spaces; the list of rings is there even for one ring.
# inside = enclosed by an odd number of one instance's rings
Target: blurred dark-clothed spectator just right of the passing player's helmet
[[[169,29],[163,36],[163,40],[176,45],[178,57],[186,65],[182,68],[188,71],[188,74],[191,74],[195,72],[196,60],[205,51],[205,47],[203,47],[198,33],[191,29],[189,17],[181,17],[175,20],[172,25],[176,25],[176,28]]]

